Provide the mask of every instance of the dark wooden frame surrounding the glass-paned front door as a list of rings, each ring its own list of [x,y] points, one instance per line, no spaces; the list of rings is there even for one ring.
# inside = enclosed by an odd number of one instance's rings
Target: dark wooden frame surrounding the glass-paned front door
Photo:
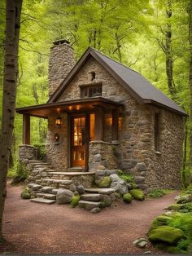
[[[78,117],[85,117],[85,171],[89,170],[89,141],[90,141],[90,125],[89,125],[89,117],[90,113],[70,113],[68,115],[68,138],[69,138],[69,147],[68,147],[68,158],[69,158],[69,167],[72,166],[72,135],[73,135],[73,125],[72,120]],[[81,167],[81,166],[80,166]]]

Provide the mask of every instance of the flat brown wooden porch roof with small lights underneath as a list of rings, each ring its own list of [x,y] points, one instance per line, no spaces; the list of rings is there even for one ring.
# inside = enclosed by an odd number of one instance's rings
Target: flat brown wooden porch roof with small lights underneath
[[[107,110],[123,107],[124,104],[117,103],[103,97],[73,99],[57,103],[39,104],[25,108],[16,108],[16,113],[28,114],[33,117],[48,118],[59,113],[78,113],[91,111],[95,107],[102,106]]]

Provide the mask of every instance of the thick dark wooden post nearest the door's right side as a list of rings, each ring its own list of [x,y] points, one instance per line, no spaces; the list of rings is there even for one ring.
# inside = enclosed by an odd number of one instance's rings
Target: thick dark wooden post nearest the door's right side
[[[104,111],[103,107],[95,108],[94,140],[103,140],[104,135]]]

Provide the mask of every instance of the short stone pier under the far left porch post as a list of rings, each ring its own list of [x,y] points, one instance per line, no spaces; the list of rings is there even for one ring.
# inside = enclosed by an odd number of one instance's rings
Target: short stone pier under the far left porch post
[[[37,148],[32,145],[20,145],[19,161],[27,165],[28,161],[33,159],[37,159]]]

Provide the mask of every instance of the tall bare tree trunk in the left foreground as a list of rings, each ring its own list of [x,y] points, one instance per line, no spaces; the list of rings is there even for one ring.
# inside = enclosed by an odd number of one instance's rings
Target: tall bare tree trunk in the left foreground
[[[16,82],[18,75],[18,47],[22,0],[6,1],[6,38],[2,99],[2,136],[0,144],[0,240],[2,214],[6,197],[7,169],[11,152],[15,117]]]

